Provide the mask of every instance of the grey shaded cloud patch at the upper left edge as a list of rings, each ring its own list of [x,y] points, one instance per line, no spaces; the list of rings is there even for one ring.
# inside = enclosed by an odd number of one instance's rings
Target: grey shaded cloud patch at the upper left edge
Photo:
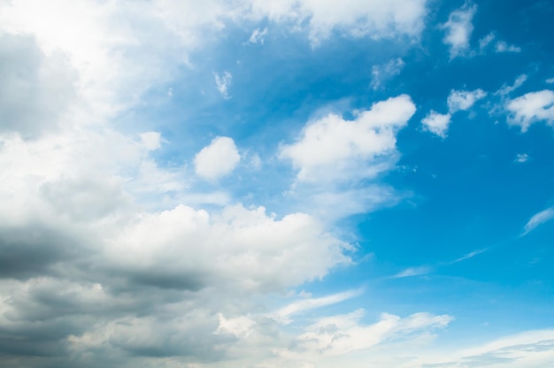
[[[0,79],[0,133],[36,138],[56,129],[75,98],[69,60],[45,55],[29,35],[0,34]]]

